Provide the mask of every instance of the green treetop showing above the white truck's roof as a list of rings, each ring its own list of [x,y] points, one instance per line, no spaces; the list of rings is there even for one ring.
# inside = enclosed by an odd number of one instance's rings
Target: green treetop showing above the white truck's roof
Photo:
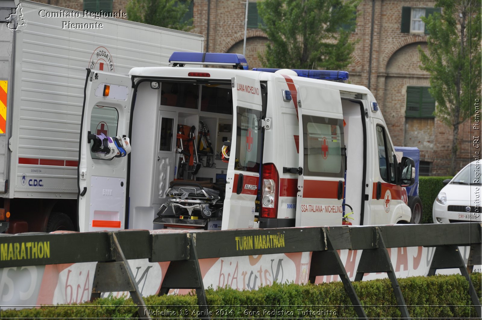
[[[191,0],[131,0],[126,6],[131,21],[189,31],[191,20],[183,21]]]

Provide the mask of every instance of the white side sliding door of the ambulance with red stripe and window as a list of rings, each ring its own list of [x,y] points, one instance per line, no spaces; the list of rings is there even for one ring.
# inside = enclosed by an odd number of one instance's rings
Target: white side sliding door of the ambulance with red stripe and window
[[[340,93],[298,84],[299,165],[296,227],[342,224],[345,143]]]

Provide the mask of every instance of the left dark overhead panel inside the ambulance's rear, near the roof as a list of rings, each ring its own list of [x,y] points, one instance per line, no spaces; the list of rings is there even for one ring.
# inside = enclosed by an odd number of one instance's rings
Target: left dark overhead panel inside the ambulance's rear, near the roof
[[[198,108],[199,85],[181,82],[161,83],[161,105],[182,107],[189,109]]]

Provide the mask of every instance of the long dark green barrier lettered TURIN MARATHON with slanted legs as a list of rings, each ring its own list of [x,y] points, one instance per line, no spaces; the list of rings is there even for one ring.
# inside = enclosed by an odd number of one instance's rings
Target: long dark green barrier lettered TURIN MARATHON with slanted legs
[[[97,262],[91,300],[102,292],[129,291],[140,318],[150,319],[127,260],[170,261],[161,284],[169,289],[195,289],[201,314],[209,309],[199,259],[271,253],[313,252],[309,280],[339,275],[359,318],[367,319],[337,250],[363,250],[355,281],[364,273],[387,272],[403,318],[410,315],[387,248],[435,247],[428,275],[437,269],[459,268],[469,281],[479,317],[482,308],[457,246],[470,246],[469,265],[481,263],[482,224],[397,225],[367,227],[296,227],[179,233],[147,230],[116,232],[19,234],[0,236],[0,268]]]

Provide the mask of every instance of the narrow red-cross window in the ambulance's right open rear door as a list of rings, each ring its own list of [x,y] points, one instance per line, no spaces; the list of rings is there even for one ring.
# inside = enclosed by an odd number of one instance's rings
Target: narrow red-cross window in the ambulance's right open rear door
[[[236,170],[259,172],[261,153],[261,111],[238,107]]]

